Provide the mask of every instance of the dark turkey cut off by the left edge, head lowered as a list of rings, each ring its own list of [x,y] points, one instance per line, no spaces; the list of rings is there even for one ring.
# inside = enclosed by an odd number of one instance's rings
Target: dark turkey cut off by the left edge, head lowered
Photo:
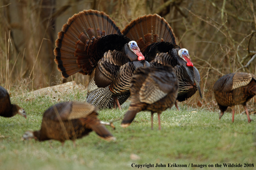
[[[0,116],[9,118],[16,114],[27,118],[25,110],[16,104],[11,104],[9,93],[0,86]]]

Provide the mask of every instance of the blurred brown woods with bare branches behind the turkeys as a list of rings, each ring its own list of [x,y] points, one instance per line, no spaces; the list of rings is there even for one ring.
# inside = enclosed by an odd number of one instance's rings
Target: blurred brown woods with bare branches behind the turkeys
[[[86,86],[81,74],[62,80],[53,61],[57,33],[84,9],[106,12],[121,30],[145,14],[164,17],[200,72],[204,97],[197,93],[190,105],[215,108],[220,76],[256,73],[256,0],[1,0],[0,85],[15,94],[72,79]]]

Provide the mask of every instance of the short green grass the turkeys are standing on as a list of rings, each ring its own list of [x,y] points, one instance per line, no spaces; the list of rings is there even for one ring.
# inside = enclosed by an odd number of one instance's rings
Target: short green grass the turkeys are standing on
[[[71,169],[131,169],[131,164],[254,164],[256,169],[256,118],[250,124],[247,116],[225,113],[219,120],[217,112],[206,109],[187,109],[175,107],[161,114],[162,130],[158,131],[157,114],[154,115],[154,130],[151,130],[150,113],[140,112],[127,128],[120,126],[128,109],[124,104],[122,111],[105,109],[99,111],[103,121],[114,121],[116,130],[107,127],[117,138],[115,142],[100,139],[95,132],[76,141],[66,141],[62,148],[56,140],[38,142],[22,141],[27,130],[41,127],[42,113],[54,103],[67,100],[84,101],[83,94],[63,94],[59,99],[50,97],[13,97],[12,103],[25,108],[28,118],[19,115],[12,118],[0,117],[0,169],[19,170],[71,170]],[[29,97],[28,97],[29,98]],[[140,157],[131,160],[131,154]],[[223,166],[223,165],[222,165]],[[170,169],[150,168],[150,169]],[[223,169],[222,167],[221,169]],[[252,169],[253,169],[252,168]],[[137,168],[136,168],[137,169]],[[146,169],[146,168],[142,168]],[[218,168],[203,168],[218,169]],[[220,168],[219,168],[220,169]],[[224,168],[231,169],[231,168]],[[237,168],[237,170],[240,168]],[[245,169],[245,168],[243,168]]]

